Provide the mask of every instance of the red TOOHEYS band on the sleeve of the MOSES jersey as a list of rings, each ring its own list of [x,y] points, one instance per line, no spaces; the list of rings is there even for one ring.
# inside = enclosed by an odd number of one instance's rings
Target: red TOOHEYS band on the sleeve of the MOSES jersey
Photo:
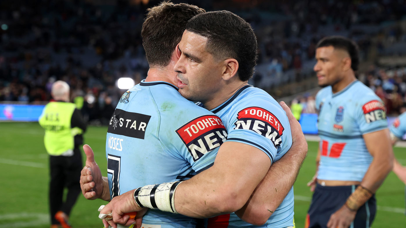
[[[207,131],[213,129],[225,129],[221,119],[218,116],[214,115],[207,115],[207,116],[200,116],[191,120],[190,122],[186,123],[179,129],[177,129],[177,133],[180,138],[188,144],[195,138],[207,133]]]

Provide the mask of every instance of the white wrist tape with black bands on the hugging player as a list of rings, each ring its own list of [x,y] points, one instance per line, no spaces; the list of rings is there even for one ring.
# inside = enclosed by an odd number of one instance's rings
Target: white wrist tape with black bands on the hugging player
[[[175,190],[181,181],[145,185],[134,191],[134,200],[140,207],[159,209],[178,214],[175,210]]]

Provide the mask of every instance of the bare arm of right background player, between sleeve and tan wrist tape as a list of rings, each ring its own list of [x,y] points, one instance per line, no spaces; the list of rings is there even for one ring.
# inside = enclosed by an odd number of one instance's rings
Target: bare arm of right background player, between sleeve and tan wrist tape
[[[393,168],[393,150],[389,129],[363,135],[369,153],[374,157],[361,185],[376,192]],[[378,142],[378,143],[377,143]]]

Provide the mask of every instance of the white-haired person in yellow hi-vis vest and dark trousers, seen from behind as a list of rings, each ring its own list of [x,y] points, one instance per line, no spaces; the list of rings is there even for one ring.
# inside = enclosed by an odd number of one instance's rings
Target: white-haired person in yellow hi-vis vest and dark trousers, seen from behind
[[[45,105],[39,117],[39,124],[45,129],[45,149],[50,155],[51,228],[71,228],[69,214],[81,191],[82,155],[79,146],[83,144],[82,133],[86,131],[86,124],[76,105],[69,103],[66,82],[56,81],[51,95],[55,101]],[[64,187],[68,189],[65,202]]]

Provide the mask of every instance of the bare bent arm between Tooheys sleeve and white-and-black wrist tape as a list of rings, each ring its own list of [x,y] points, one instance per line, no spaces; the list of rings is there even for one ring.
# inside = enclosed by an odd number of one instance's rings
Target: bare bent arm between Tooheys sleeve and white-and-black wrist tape
[[[244,206],[269,166],[270,159],[263,151],[225,142],[211,168],[178,185],[175,209],[197,218],[234,212]]]

